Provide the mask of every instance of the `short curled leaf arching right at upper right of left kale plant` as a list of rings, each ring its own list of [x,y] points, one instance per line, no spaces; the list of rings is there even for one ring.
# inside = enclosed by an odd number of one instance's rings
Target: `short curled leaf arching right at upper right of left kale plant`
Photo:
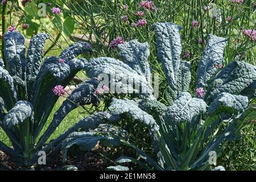
[[[64,51],[61,52],[59,58],[64,59],[65,63],[68,63],[68,61],[75,59],[77,56],[86,52],[92,53],[92,46],[86,42],[79,41],[71,44],[68,48],[65,48]]]

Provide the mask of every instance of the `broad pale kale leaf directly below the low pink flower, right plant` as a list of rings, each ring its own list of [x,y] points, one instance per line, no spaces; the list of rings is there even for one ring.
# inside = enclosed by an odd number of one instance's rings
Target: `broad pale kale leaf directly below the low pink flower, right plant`
[[[181,93],[177,100],[166,110],[165,122],[172,123],[191,122],[193,117],[207,111],[207,104],[200,98],[192,98],[188,92]]]

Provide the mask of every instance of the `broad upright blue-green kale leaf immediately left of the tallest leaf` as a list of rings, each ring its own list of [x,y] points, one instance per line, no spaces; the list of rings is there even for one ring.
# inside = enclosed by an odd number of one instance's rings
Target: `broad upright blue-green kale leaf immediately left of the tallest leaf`
[[[136,39],[118,45],[118,55],[122,57],[123,62],[139,75],[146,76],[148,82],[151,80],[151,67],[148,63],[149,47],[148,43],[139,43]]]

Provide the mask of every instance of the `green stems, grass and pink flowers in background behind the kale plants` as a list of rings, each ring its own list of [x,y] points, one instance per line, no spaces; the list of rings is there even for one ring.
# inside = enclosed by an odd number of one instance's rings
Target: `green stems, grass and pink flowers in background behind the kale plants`
[[[47,32],[51,38],[46,42],[44,56],[59,55],[63,47],[78,40],[84,40],[93,45],[93,57],[118,57],[115,47],[129,40],[138,39],[139,42],[148,42],[151,46],[149,62],[153,72],[158,73],[160,78],[158,100],[166,104],[164,93],[167,88],[167,79],[156,56],[156,40],[152,27],[155,22],[174,22],[183,27],[181,30],[184,51],[182,55],[183,59],[190,61],[192,65],[191,94],[195,94],[197,64],[209,34],[228,39],[224,52],[225,65],[235,59],[256,65],[256,2],[254,0],[34,0],[24,2],[26,3],[19,0],[2,1],[0,31],[2,33],[0,34],[3,35],[11,26],[23,32],[27,39],[37,32]],[[42,13],[44,6],[46,16],[40,16],[39,13]],[[82,72],[77,76],[86,77]],[[112,96],[105,96],[102,104],[105,108],[108,107],[111,98]],[[56,105],[56,110],[61,102],[60,100]],[[256,104],[255,101],[253,102]],[[75,110],[70,113],[70,117],[68,115],[65,118],[52,138],[67,129],[65,125],[76,122],[76,119],[72,118],[82,114],[86,115],[86,112]],[[125,117],[124,122],[119,125],[133,134],[131,140],[134,140],[139,148],[147,152],[152,151],[148,144],[150,138],[144,137],[146,129],[134,127],[130,124],[133,121],[129,120],[131,118]],[[250,125],[241,131],[242,138],[225,148],[224,155],[220,159],[222,166],[231,170],[256,168],[255,132],[256,122],[251,121]],[[5,140],[5,135],[1,133],[0,139]],[[248,163],[247,166],[243,164],[245,161]]]

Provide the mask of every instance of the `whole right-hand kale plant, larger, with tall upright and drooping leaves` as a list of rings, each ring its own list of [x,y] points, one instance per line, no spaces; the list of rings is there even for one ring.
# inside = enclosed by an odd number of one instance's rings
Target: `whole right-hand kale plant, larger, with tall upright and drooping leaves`
[[[122,81],[128,77],[143,88],[144,92],[137,92],[139,97],[134,100],[113,98],[109,113],[129,114],[148,127],[158,160],[151,159],[134,144],[122,139],[121,144],[134,148],[147,164],[126,156],[116,162],[135,162],[144,169],[210,169],[209,152],[215,151],[220,155],[224,144],[239,137],[239,131],[246,122],[255,118],[256,112],[249,103],[256,96],[256,67],[235,60],[221,69],[225,63],[226,39],[209,35],[198,66],[196,94],[193,94],[196,97],[193,98],[189,93],[191,65],[180,57],[181,27],[173,23],[155,23],[154,27],[158,58],[168,81],[168,106],[153,97],[147,43],[131,40],[119,44],[119,56],[123,61],[100,57],[89,60],[84,68],[89,77],[97,77],[101,73],[117,75],[117,78],[110,79],[110,86],[118,85],[122,93],[129,89],[138,91]],[[110,169],[127,168],[117,166]],[[223,168],[215,168],[220,169]]]

